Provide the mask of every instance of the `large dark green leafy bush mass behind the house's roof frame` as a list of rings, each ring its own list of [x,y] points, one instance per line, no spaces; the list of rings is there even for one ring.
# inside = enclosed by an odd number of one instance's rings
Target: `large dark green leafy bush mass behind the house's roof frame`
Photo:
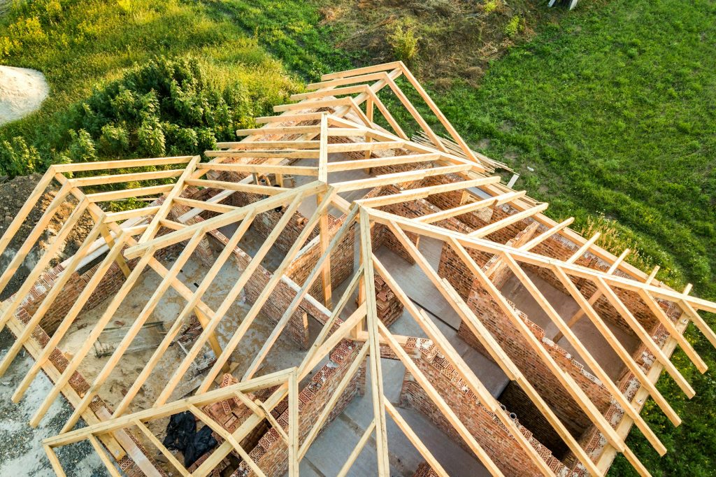
[[[220,89],[198,59],[158,58],[92,92],[70,115],[69,148],[57,160],[200,154],[230,140],[253,111],[236,84]]]

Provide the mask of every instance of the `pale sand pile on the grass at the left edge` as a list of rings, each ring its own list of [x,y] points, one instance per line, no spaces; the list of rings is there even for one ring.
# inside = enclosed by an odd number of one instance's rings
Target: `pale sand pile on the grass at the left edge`
[[[0,66],[0,125],[39,109],[48,93],[49,86],[41,72]]]

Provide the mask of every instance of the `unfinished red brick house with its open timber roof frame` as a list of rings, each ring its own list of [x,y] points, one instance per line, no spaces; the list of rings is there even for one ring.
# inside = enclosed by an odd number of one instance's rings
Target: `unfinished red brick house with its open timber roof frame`
[[[666,452],[639,411],[651,397],[679,425],[654,382],[694,395],[669,357],[706,371],[683,332],[716,345],[700,316],[716,304],[500,183],[402,63],[307,90],[208,162],[53,165],[0,239],[59,184],[4,287],[74,206],[0,317],[16,337],[0,372],[35,360],[13,400],[40,371],[54,383],[30,424],[60,394],[74,408],[44,440],[57,474],[62,446],[89,440],[113,476],[601,476],[616,453],[648,476],[624,439],[637,425]],[[125,198],[149,201],[106,211]],[[51,267],[82,217],[89,235]],[[165,440],[180,413],[216,440],[191,463]]]

